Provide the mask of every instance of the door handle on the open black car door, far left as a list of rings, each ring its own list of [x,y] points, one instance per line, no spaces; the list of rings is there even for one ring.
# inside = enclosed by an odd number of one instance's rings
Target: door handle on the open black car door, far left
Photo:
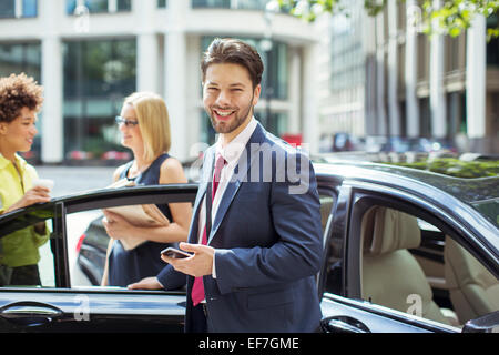
[[[21,301],[0,308],[0,316],[21,326],[39,326],[61,318],[64,313],[47,303]]]

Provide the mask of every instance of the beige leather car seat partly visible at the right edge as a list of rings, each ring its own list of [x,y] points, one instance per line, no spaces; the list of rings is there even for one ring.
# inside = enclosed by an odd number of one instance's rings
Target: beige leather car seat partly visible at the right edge
[[[444,260],[450,301],[461,324],[499,310],[499,281],[449,236]]]

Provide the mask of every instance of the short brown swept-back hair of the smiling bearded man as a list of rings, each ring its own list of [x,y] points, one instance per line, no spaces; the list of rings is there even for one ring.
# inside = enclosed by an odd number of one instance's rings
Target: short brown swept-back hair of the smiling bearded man
[[[264,65],[258,52],[252,45],[233,38],[216,38],[204,52],[201,61],[203,82],[211,64],[232,63],[247,69],[253,82],[253,89],[262,82]]]

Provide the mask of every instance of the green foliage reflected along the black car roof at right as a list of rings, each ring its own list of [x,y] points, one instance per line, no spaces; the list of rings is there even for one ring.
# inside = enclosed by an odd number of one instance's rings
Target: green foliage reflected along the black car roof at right
[[[389,163],[419,170],[427,170],[456,178],[486,178],[499,175],[499,161],[461,161],[454,158],[437,158],[414,163]]]

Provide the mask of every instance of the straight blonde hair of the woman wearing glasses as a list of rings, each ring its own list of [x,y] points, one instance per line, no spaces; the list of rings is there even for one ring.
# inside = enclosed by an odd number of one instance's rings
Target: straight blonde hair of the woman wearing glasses
[[[153,161],[157,155],[167,153],[172,140],[169,110],[164,100],[153,92],[134,92],[125,98],[123,104],[131,104],[135,110],[144,141],[144,159]]]

